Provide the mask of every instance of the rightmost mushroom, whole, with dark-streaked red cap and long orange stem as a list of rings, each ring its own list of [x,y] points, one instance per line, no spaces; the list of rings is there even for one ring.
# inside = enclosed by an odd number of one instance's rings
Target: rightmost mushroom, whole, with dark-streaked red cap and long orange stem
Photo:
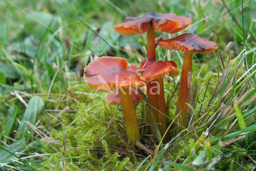
[[[180,50],[184,52],[182,72],[180,77],[180,90],[177,102],[177,114],[180,113],[179,121],[182,129],[187,127],[187,113],[189,103],[192,105],[191,97],[191,73],[192,54],[208,54],[217,49],[214,42],[201,38],[193,33],[185,33],[176,38],[162,40],[158,45],[164,49]],[[183,123],[182,123],[183,122]]]

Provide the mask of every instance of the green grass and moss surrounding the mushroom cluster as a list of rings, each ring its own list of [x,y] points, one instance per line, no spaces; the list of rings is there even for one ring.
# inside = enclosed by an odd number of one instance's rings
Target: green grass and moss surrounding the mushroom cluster
[[[243,6],[240,0],[226,0],[226,7],[222,0],[10,2],[0,2],[0,170],[255,167],[255,0],[244,0]],[[137,65],[144,60],[146,34],[120,36],[113,26],[150,11],[192,19],[172,36],[192,32],[215,41],[214,29],[220,50],[193,56],[194,120],[183,132],[172,125],[169,142],[153,154],[130,151],[122,108],[108,105],[106,93],[95,92],[82,78],[93,58],[119,56]],[[160,35],[170,36],[156,32]],[[183,54],[169,52],[158,47],[157,58],[175,61],[181,71]],[[168,125],[176,114],[179,79],[164,81]],[[159,142],[149,135],[144,101],[136,113],[141,143],[154,151]],[[64,125],[66,156],[63,126],[51,115]]]

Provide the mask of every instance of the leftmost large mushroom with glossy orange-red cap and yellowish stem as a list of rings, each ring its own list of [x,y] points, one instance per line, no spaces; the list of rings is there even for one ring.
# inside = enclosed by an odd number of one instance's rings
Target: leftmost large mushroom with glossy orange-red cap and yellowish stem
[[[137,66],[127,68],[124,58],[100,57],[84,68],[84,81],[98,91],[117,89],[122,100],[124,120],[129,143],[134,147],[135,140],[140,141],[138,121],[129,94],[129,88],[142,87],[146,83],[136,74]]]

